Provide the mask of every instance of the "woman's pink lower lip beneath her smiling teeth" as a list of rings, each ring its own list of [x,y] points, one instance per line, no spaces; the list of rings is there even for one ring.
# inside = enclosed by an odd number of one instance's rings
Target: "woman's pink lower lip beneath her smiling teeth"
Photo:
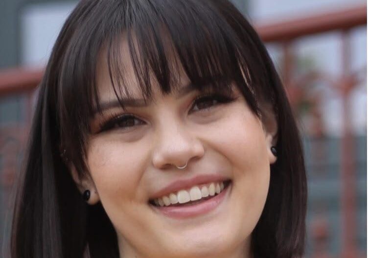
[[[227,192],[230,191],[230,188],[231,184],[219,194],[198,204],[188,206],[155,207],[155,209],[160,211],[165,216],[178,219],[202,215],[218,207],[220,203],[225,199]]]

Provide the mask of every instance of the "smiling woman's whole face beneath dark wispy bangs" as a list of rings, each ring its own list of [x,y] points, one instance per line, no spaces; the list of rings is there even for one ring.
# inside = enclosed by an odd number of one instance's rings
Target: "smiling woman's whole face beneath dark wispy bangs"
[[[99,62],[104,110],[91,122],[86,183],[115,227],[121,257],[245,257],[275,162],[271,134],[236,87],[230,98],[196,100],[182,73],[178,91],[163,95],[153,83],[145,104],[131,63],[125,69],[136,99],[126,111]]]

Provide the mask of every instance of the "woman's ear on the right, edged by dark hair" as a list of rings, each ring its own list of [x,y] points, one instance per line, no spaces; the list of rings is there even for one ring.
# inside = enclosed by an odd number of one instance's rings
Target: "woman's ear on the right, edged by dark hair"
[[[265,134],[269,163],[274,164],[277,161],[277,157],[274,156],[271,148],[277,144],[278,124],[273,106],[270,103],[263,103],[261,106],[261,122]]]

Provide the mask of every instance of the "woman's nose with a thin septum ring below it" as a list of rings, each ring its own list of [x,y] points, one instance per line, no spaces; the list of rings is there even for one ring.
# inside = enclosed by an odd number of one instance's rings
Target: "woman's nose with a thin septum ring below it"
[[[191,160],[204,156],[202,142],[194,133],[178,123],[161,127],[153,153],[152,163],[158,169],[170,166],[183,167]]]

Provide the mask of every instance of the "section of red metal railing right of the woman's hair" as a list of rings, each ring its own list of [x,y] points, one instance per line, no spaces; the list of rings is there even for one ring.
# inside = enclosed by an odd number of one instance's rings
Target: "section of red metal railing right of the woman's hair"
[[[297,87],[297,85],[306,85],[309,81],[320,78],[323,81],[328,82],[335,92],[339,93],[343,101],[343,138],[341,142],[341,204],[342,204],[342,257],[344,258],[357,258],[360,254],[357,251],[355,244],[356,236],[356,205],[355,205],[355,149],[353,142],[353,134],[349,125],[352,124],[350,120],[350,106],[349,97],[354,88],[361,82],[359,74],[360,71],[352,71],[351,69],[351,47],[350,46],[350,31],[353,28],[363,26],[367,24],[367,6],[362,5],[342,11],[323,13],[302,19],[275,23],[258,27],[258,32],[265,42],[280,43],[283,48],[283,70],[282,78],[284,85],[289,93],[290,101],[292,105],[298,103],[303,94],[302,91],[307,91],[303,87]],[[341,75],[336,78],[314,72],[310,73],[304,78],[294,78],[292,74],[293,63],[293,43],[297,39],[302,37],[311,36],[320,33],[327,33],[336,31],[341,34]],[[366,67],[361,70],[365,72]],[[316,96],[315,105],[319,105],[320,96]],[[313,133],[317,136],[323,134],[321,114],[319,108],[316,123],[313,125]],[[317,150],[319,151],[319,150]],[[324,221],[324,220],[323,220]],[[322,223],[320,223],[322,224]],[[326,226],[321,227],[321,229]],[[319,251],[321,252],[321,251]],[[320,253],[323,257],[325,254]],[[318,255],[318,254],[317,254]]]

